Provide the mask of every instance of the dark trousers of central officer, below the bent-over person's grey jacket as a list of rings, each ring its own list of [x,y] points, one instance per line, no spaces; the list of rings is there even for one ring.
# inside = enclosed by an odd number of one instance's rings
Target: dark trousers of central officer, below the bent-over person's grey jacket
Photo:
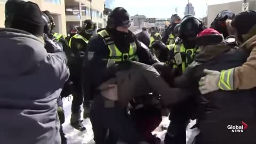
[[[91,103],[90,119],[96,144],[114,144],[117,140],[128,144],[139,142],[139,135],[126,109],[100,94]]]

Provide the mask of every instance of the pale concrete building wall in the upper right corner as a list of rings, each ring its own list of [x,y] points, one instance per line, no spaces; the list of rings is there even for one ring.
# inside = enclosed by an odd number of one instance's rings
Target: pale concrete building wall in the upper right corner
[[[249,2],[249,10],[256,10],[256,1],[247,1]],[[229,10],[238,14],[242,12],[242,4],[243,1],[231,2],[231,3],[223,3],[217,5],[209,5],[208,6],[208,17],[207,17],[207,26],[210,27],[212,21],[215,19],[217,14],[222,10]]]

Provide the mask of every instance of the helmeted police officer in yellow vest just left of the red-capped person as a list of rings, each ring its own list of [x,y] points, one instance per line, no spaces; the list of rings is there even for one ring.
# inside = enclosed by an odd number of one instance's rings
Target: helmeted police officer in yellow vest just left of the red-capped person
[[[188,65],[193,62],[196,48],[196,36],[202,31],[203,23],[195,17],[187,17],[180,23],[179,38],[181,42],[174,45],[169,53],[169,61],[176,69],[177,76],[182,75]],[[165,143],[186,143],[186,126],[188,114],[186,111],[187,102],[182,102],[172,109],[169,119],[171,123],[165,135]]]

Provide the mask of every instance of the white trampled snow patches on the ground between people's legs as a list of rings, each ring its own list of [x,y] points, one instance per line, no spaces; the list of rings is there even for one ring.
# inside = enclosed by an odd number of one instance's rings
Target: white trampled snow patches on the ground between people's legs
[[[84,119],[83,124],[86,127],[86,130],[83,132],[80,132],[76,129],[74,129],[70,125],[70,117],[71,117],[71,101],[68,101],[67,98],[63,98],[63,108],[65,110],[65,123],[62,125],[63,130],[66,133],[66,138],[68,139],[68,144],[94,144],[93,141],[93,131],[92,131],[92,125],[90,122],[90,119]],[[82,113],[83,114],[83,113]],[[83,117],[83,116],[81,116]],[[156,134],[158,138],[161,138],[161,140],[164,140],[164,136],[167,132],[167,127],[169,125],[170,121],[168,117],[163,117],[162,123],[156,128],[156,130],[153,132],[153,134]],[[189,127],[193,126],[195,124],[195,121],[191,121],[191,123],[188,125],[187,128],[187,144],[191,143],[191,140],[189,138],[193,137],[195,134],[197,134],[197,130],[190,130]],[[165,130],[163,130],[163,127]]]

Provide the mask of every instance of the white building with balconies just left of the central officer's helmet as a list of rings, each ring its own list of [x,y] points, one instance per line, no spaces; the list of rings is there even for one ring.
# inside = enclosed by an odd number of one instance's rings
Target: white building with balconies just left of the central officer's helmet
[[[92,19],[97,23],[98,28],[102,28],[104,0],[81,0],[82,14],[80,14],[79,2],[79,0],[65,0],[67,31],[73,26],[80,26],[81,18],[82,21]]]

